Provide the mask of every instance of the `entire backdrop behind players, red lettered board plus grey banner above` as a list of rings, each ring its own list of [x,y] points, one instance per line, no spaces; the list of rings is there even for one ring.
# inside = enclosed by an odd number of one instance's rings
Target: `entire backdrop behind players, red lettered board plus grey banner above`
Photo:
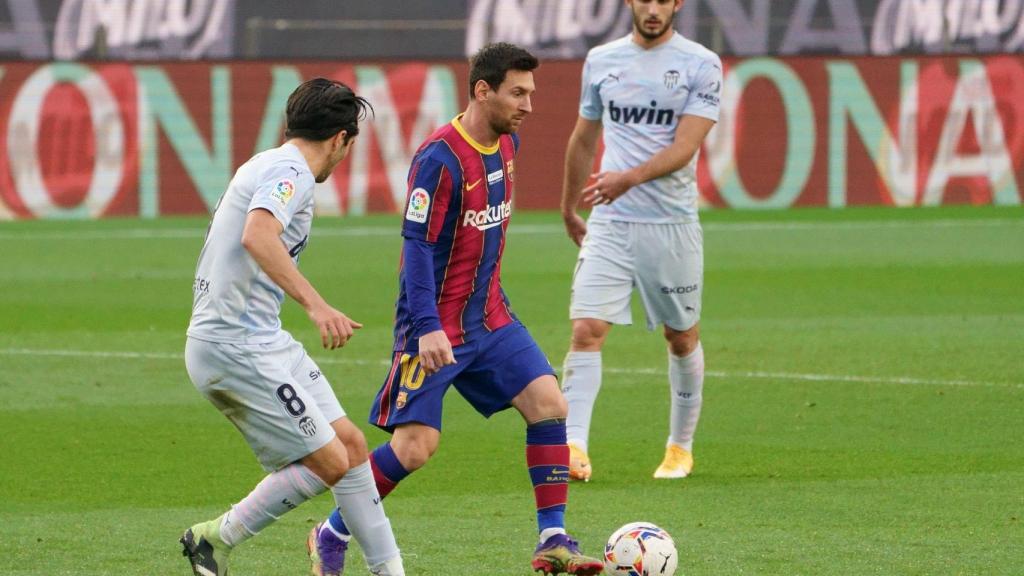
[[[724,56],[709,206],[1020,204],[1024,0],[688,0]],[[415,148],[466,101],[466,54],[544,58],[517,207],[558,205],[582,58],[620,0],[0,0],[0,219],[196,214],[329,76],[371,99],[324,214],[393,212]]]

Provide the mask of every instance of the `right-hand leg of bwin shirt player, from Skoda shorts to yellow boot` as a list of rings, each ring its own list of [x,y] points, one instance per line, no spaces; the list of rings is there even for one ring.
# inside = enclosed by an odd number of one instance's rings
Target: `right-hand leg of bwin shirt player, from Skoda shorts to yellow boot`
[[[637,287],[648,327],[665,325],[670,417],[665,458],[654,478],[685,478],[693,469],[693,435],[703,402],[703,348],[698,322],[703,292],[700,224],[637,225]]]

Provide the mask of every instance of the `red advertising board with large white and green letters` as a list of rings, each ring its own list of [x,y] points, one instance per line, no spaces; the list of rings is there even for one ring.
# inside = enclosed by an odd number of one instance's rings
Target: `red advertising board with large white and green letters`
[[[580,63],[546,63],[522,130],[517,206],[558,205]],[[337,78],[376,110],[317,191],[325,214],[397,211],[419,143],[466,101],[457,64],[0,65],[0,219],[208,211],[281,141],[299,82]],[[1024,59],[726,61],[699,159],[707,204],[1020,204]]]

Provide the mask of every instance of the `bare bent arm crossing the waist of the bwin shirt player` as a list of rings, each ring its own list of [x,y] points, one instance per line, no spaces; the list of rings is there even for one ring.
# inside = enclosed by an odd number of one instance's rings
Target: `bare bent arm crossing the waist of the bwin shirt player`
[[[682,116],[671,145],[629,170],[595,174],[594,183],[583,191],[584,201],[594,205],[610,204],[633,187],[681,169],[693,160],[693,155],[700,150],[700,145],[714,126],[714,120],[702,116]]]

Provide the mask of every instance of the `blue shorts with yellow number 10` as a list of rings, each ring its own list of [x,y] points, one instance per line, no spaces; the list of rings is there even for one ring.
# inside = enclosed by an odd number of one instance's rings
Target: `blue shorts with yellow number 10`
[[[527,384],[554,375],[547,357],[518,322],[456,346],[457,364],[427,376],[420,357],[396,352],[370,410],[370,423],[387,431],[409,422],[441,429],[444,394],[455,384],[477,412],[489,417],[511,406]]]

